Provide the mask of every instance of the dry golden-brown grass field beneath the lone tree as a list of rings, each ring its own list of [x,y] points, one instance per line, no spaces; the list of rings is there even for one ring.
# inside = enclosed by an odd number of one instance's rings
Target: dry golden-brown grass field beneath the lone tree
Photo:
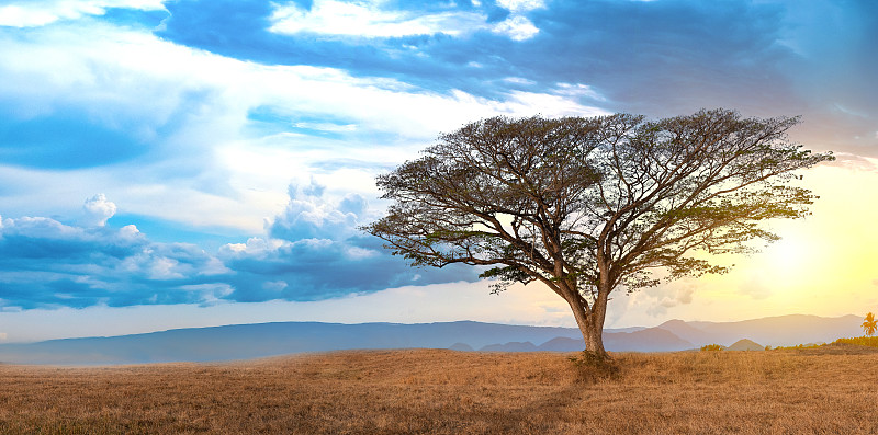
[[[571,355],[437,350],[0,365],[0,433],[878,433],[875,352],[616,354],[601,379]]]

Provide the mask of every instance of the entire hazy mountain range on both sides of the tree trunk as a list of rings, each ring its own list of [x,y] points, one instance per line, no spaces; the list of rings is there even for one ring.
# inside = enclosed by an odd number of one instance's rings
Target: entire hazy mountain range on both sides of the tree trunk
[[[831,342],[862,334],[862,318],[790,314],[738,322],[669,320],[653,328],[608,329],[610,352],[674,352],[748,339],[761,345]],[[480,352],[576,352],[575,328],[473,321],[441,323],[275,322],[176,329],[145,334],[0,344],[0,363],[104,365],[249,359],[353,348],[435,347]]]

